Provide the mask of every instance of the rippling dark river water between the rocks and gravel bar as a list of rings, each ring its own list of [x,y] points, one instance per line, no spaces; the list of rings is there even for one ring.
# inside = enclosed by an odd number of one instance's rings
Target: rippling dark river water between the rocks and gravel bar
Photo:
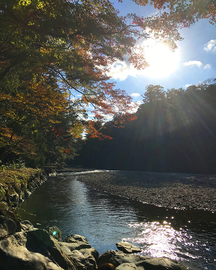
[[[140,255],[216,270],[216,213],[145,205],[90,189],[76,174],[49,177],[19,205],[23,220],[57,226],[62,239],[83,235],[100,255],[123,240],[141,247]]]

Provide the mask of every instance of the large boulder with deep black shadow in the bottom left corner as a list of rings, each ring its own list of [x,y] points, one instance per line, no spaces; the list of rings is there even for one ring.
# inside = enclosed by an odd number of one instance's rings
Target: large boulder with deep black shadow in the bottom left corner
[[[0,241],[1,270],[76,270],[46,230],[30,229]]]

